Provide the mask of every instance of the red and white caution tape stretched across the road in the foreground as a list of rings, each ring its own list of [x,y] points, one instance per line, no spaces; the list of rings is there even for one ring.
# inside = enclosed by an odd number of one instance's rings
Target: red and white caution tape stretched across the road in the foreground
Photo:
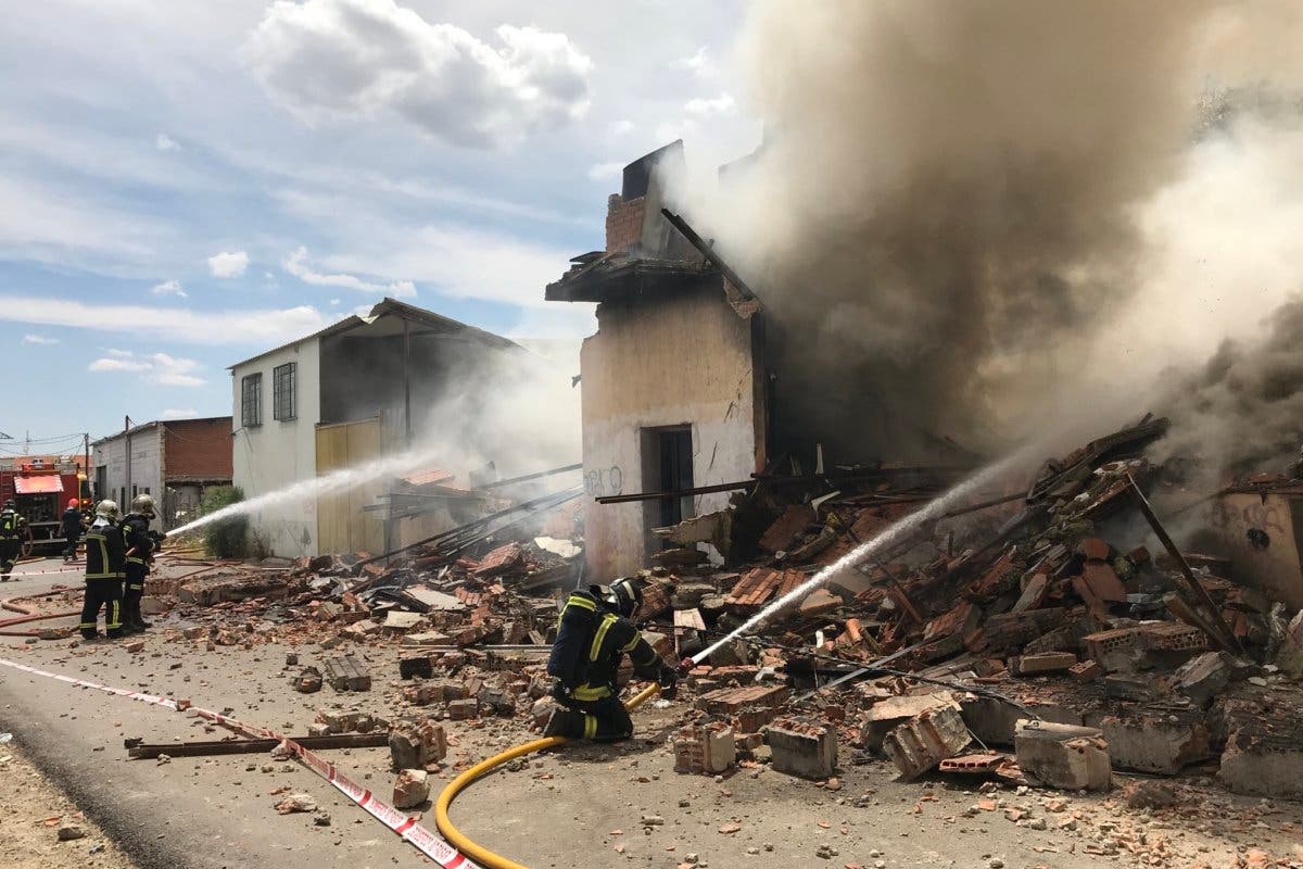
[[[57,672],[50,672],[46,670],[38,670],[36,667],[29,667],[27,664],[18,663],[17,661],[8,661],[0,658],[0,666],[10,667],[33,676],[44,676],[46,679],[55,679],[57,681],[66,683],[69,685],[76,685],[78,688],[90,688],[93,691],[102,691],[116,697],[125,697],[126,700],[134,700],[142,704],[151,704],[154,706],[163,706],[164,709],[171,709],[172,711],[184,710],[188,706],[177,702],[169,697],[156,697],[154,694],[146,694],[138,691],[126,691],[124,688],[112,688],[109,685],[102,685],[99,683],[87,681],[85,679],[74,679],[73,676],[64,676]],[[379,799],[362,786],[351,780],[343,773],[335,769],[335,765],[323,758],[321,754],[311,752],[294,740],[289,739],[283,734],[267,730],[266,727],[258,727],[257,724],[246,724],[245,722],[229,718],[220,713],[215,713],[207,709],[190,707],[190,711],[206,718],[224,727],[229,727],[233,731],[241,732],[245,736],[254,739],[278,739],[284,743],[297,757],[304,766],[310,769],[317,775],[322,776],[327,782],[335,786],[335,788],[347,796],[349,800],[356,803],[358,806],[365,809],[371,817],[387,826],[390,830],[396,833],[399,836],[409,842],[421,853],[434,860],[437,864],[444,869],[480,869],[480,865],[473,862],[465,855],[459,852],[451,844],[444,842],[438,834],[430,833],[420,823],[416,818],[408,817],[405,812],[395,809],[392,805]]]

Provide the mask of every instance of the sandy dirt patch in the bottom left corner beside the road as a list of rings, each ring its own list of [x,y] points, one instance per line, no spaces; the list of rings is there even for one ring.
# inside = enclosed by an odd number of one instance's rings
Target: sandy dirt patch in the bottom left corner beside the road
[[[63,827],[81,827],[83,835],[60,842]],[[0,745],[0,865],[136,869],[117,844],[33,765],[16,740]]]

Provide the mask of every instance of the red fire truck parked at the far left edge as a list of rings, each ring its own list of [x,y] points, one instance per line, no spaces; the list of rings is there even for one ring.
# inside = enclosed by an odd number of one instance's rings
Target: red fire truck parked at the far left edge
[[[73,498],[89,499],[79,456],[21,456],[0,463],[0,504],[13,499],[27,520],[22,556],[65,546],[63,513]]]

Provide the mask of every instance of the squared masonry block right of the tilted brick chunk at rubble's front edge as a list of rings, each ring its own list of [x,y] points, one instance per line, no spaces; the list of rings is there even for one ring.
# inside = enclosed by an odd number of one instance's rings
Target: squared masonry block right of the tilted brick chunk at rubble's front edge
[[[1108,791],[1113,778],[1109,745],[1095,727],[1027,718],[1014,734],[1018,767],[1037,782],[1065,791]]]

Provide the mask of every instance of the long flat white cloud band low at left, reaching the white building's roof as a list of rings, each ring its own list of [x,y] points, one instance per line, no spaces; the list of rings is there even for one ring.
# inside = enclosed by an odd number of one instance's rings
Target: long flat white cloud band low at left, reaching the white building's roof
[[[194,344],[275,345],[322,330],[334,318],[304,305],[284,310],[190,310],[154,305],[94,305],[43,296],[0,296],[0,321],[151,335]],[[129,350],[108,356],[130,358]]]

